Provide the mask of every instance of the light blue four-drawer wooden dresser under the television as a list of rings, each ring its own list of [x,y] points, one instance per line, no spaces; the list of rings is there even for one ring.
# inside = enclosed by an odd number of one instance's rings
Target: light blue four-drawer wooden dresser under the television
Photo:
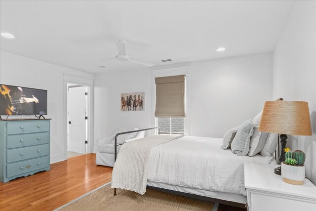
[[[0,120],[0,182],[49,170],[50,119]]]

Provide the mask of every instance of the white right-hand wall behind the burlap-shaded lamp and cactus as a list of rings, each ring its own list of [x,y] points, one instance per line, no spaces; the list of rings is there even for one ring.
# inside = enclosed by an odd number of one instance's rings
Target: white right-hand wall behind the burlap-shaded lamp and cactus
[[[316,184],[316,1],[298,1],[276,43],[273,97],[309,103],[313,136],[290,136],[288,147],[306,153],[306,176]]]

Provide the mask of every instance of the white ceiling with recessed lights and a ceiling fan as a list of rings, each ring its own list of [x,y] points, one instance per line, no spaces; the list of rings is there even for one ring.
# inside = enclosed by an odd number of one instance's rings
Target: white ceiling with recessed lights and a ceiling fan
[[[293,1],[0,1],[1,50],[88,73],[272,51]],[[226,47],[217,52],[216,48]],[[161,62],[172,59],[172,62]],[[98,66],[106,66],[99,68]]]

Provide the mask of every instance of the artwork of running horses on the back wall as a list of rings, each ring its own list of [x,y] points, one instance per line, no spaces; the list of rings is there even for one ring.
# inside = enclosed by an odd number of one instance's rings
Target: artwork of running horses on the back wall
[[[121,111],[145,111],[145,92],[121,93]]]

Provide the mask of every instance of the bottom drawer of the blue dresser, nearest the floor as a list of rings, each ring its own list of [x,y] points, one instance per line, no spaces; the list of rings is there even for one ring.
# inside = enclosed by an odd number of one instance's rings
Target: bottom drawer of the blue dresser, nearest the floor
[[[33,170],[43,169],[49,166],[49,157],[36,158],[28,161],[6,165],[6,176],[16,176]]]

